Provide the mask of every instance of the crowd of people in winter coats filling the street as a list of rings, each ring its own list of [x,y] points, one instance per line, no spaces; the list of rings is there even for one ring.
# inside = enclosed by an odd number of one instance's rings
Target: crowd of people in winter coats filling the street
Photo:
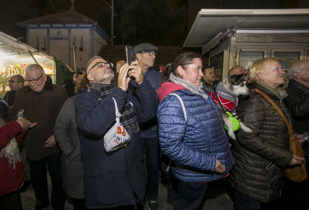
[[[35,210],[49,203],[64,209],[66,196],[73,199],[74,210],[139,209],[144,202],[158,210],[164,171],[167,203],[177,210],[198,209],[209,183],[220,179],[233,188],[229,196],[236,210],[307,210],[309,181],[293,182],[284,173],[303,162],[309,172],[309,145],[303,137],[309,132],[309,61],[290,65],[286,89],[286,72],[274,58],[228,72],[273,100],[294,128],[303,158],[289,149],[284,119],[256,91],[239,96],[237,107],[238,118],[252,132],[239,129],[236,140],[229,138],[208,95],[220,82],[214,69],[203,66],[200,55],[181,53],[161,73],[153,68],[158,50],[139,44],[136,61],[121,60],[116,70],[94,56],[85,72],[75,72],[63,87],[52,84],[39,64],[29,64],[25,78],[10,77],[11,91],[0,99],[0,209],[22,209],[21,184],[31,180]],[[115,136],[128,135],[129,142],[106,151],[106,134],[115,122],[123,126],[114,130]],[[26,155],[18,148],[23,139]]]

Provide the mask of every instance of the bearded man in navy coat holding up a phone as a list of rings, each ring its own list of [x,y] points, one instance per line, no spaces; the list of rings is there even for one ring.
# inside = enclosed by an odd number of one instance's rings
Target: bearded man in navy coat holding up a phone
[[[84,193],[88,209],[133,206],[134,197],[144,200],[146,171],[142,163],[138,123],[156,115],[158,101],[155,90],[137,64],[137,61],[130,66],[126,63],[120,68],[118,87],[111,84],[114,77],[112,63],[95,56],[86,66],[87,78],[92,81],[91,91],[76,97],[75,112],[82,140]],[[127,91],[129,82],[138,98]],[[104,135],[116,122],[114,100],[122,114],[120,123],[131,140],[126,147],[106,152]]]

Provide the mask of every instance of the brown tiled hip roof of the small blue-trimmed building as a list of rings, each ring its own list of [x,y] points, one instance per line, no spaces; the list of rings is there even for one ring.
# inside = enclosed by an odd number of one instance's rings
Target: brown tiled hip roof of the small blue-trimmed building
[[[75,10],[67,10],[18,23],[18,25],[29,24],[97,24],[97,22]]]

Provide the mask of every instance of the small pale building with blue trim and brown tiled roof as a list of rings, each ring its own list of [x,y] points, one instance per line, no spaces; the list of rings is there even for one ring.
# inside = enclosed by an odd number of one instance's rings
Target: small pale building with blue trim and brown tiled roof
[[[72,45],[75,43],[76,69],[85,69],[102,45],[111,41],[91,18],[71,10],[22,21],[27,29],[27,44],[53,55],[74,69]]]

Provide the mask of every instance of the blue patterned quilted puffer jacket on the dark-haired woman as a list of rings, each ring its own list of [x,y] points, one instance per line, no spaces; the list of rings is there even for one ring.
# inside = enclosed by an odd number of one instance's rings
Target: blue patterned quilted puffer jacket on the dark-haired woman
[[[226,176],[234,159],[214,102],[185,89],[174,93],[184,102],[187,122],[176,96],[167,95],[158,109],[159,143],[163,153],[176,163],[173,175],[184,182],[209,182]],[[225,164],[222,174],[214,170],[216,159]]]

